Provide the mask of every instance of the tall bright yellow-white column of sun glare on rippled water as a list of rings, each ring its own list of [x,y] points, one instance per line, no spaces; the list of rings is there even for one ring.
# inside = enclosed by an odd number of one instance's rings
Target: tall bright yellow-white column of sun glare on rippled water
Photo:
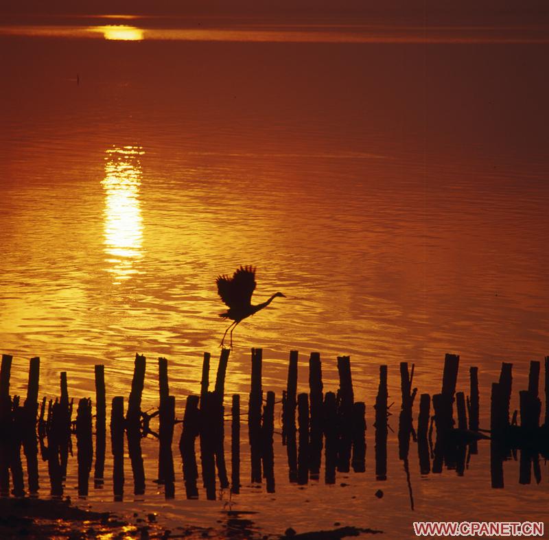
[[[104,243],[106,261],[115,283],[129,279],[138,270],[135,261],[143,257],[141,247],[143,218],[139,204],[141,185],[140,146],[124,146],[106,150]]]

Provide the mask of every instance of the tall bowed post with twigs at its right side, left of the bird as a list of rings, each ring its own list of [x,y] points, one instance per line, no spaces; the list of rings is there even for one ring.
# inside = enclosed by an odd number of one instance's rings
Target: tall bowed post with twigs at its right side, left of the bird
[[[141,451],[141,395],[145,384],[145,357],[135,355],[135,366],[132,378],[132,389],[128,398],[126,413],[126,435],[128,437],[128,454],[132,464],[135,495],[145,493],[145,469]]]

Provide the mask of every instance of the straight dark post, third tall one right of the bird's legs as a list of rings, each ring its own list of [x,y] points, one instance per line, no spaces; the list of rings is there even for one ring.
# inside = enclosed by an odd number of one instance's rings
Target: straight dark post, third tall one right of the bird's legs
[[[320,353],[311,353],[309,358],[309,398],[310,398],[310,427],[309,467],[311,480],[318,480],[320,476],[320,460],[323,447],[323,384]]]

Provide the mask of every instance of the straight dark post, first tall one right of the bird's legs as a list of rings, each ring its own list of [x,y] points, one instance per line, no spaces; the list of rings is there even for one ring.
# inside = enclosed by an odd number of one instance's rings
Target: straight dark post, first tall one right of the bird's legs
[[[248,437],[250,439],[251,480],[261,482],[261,362],[262,349],[252,349],[252,377],[248,401]]]

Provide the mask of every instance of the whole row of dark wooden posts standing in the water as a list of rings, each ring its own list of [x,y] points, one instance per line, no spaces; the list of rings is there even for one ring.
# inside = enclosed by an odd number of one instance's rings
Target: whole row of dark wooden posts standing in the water
[[[231,403],[231,480],[224,458],[224,380],[229,350],[223,349],[213,390],[209,390],[210,355],[205,353],[202,364],[200,395],[190,395],[185,404],[183,431],[179,441],[183,461],[183,478],[187,497],[198,497],[198,465],[196,439],[200,444],[200,469],[202,486],[207,498],[216,496],[216,469],[220,489],[240,491],[240,395],[232,396]],[[47,461],[51,494],[63,493],[63,481],[67,473],[67,460],[71,449],[71,432],[75,433],[78,452],[78,493],[89,492],[89,476],[93,463],[92,405],[91,399],[78,401],[75,422],[71,421],[73,401],[69,400],[67,373],[60,374],[60,397],[41,402],[38,414],[38,379],[40,359],[30,360],[27,397],[23,406],[19,397],[10,397],[10,371],[12,357],[3,355],[0,370],[0,429],[5,434],[0,441],[0,494],[25,493],[21,447],[26,458],[27,484],[30,493],[37,493],[38,448]],[[354,401],[349,357],[338,357],[339,388],[337,393],[325,392],[322,381],[320,355],[309,357],[309,392],[297,394],[298,353],[291,351],[288,365],[288,384],[282,396],[282,438],[287,447],[290,482],[306,484],[320,476],[322,451],[325,454],[325,482],[336,481],[336,471],[365,470],[366,418],[364,402]],[[521,483],[529,483],[531,471],[539,482],[538,456],[547,457],[549,357],[545,361],[546,417],[540,427],[541,401],[539,399],[539,362],[530,363],[528,389],[519,392],[521,425],[517,425],[517,412],[511,418],[512,364],[504,362],[500,379],[492,385],[490,430],[479,427],[478,368],[469,370],[469,395],[456,392],[459,357],[446,355],[442,388],[439,394],[422,394],[419,400],[417,432],[412,421],[412,408],[417,388],[412,388],[414,365],[400,364],[401,411],[399,414],[399,458],[410,487],[413,506],[408,453],[410,438],[417,441],[420,471],[427,474],[441,473],[443,465],[463,474],[466,461],[478,451],[482,432],[491,433],[491,472],[493,487],[503,486],[502,463],[516,449],[521,450]],[[261,386],[262,351],[253,349],[251,361],[250,394],[248,397],[248,438],[250,443],[250,480],[266,481],[268,492],[274,491],[274,392],[266,392]],[[174,496],[174,460],[172,442],[175,414],[175,397],[170,395],[167,360],[159,359],[159,407],[153,414],[141,410],[141,397],[145,378],[145,357],[136,355],[135,370],[124,414],[124,397],[113,398],[110,417],[110,439],[113,453],[113,491],[115,499],[124,495],[124,435],[128,441],[134,492],[145,491],[145,471],[141,452],[141,438],[154,434],[159,438],[158,481],[165,486],[166,497]],[[434,415],[430,416],[430,405]],[[457,426],[454,421],[456,403]],[[375,399],[375,476],[387,478],[388,406],[387,366],[379,367],[379,388]],[[36,416],[38,415],[38,437]],[[150,419],[159,416],[159,433],[150,429]],[[436,442],[432,443],[433,425]],[[47,444],[46,444],[47,443]],[[106,454],[106,392],[104,366],[95,366],[95,487],[103,484]],[[432,464],[431,464],[432,460]]]

